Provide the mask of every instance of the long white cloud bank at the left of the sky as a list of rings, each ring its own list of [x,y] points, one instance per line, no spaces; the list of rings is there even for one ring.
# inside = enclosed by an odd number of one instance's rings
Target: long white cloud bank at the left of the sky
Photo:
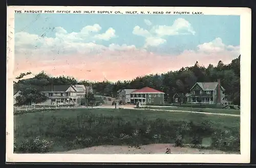
[[[15,34],[15,51],[17,53],[33,54],[49,54],[49,53],[98,53],[107,49],[127,50],[136,48],[135,46],[121,46],[112,44],[104,46],[97,44],[97,41],[108,41],[114,37],[115,30],[110,27],[104,33],[100,33],[99,24],[87,25],[80,32],[68,33],[63,27],[55,27],[55,37],[29,34],[26,32],[18,32]]]

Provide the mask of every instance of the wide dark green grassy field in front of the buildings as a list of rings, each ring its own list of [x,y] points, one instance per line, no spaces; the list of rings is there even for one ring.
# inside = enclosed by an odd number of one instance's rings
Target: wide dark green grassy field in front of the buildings
[[[224,134],[238,137],[239,128],[238,117],[144,109],[48,109],[14,115],[16,152],[52,152],[108,144],[138,146],[177,141],[198,145],[205,138],[214,142],[214,149],[239,150],[237,142],[224,148],[221,145],[223,138],[219,138]],[[53,142],[53,145],[42,151],[38,150],[44,146],[40,143],[50,145],[39,140],[24,143],[26,139],[36,137]],[[227,141],[230,142],[226,144],[233,143],[233,140]],[[27,146],[33,146],[33,150]]]

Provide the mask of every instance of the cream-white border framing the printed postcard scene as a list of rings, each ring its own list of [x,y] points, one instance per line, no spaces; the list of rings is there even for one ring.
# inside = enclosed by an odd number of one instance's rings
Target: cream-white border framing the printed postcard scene
[[[14,10],[94,10],[94,11],[170,11],[202,12],[204,15],[240,15],[241,50],[241,154],[14,154],[13,153],[13,69]],[[168,13],[173,15],[172,13]],[[236,35],[234,35],[236,36]],[[54,7],[9,6],[7,12],[7,162],[155,162],[155,163],[248,163],[250,161],[251,88],[251,10],[249,8],[209,7]],[[248,77],[249,76],[249,77]]]

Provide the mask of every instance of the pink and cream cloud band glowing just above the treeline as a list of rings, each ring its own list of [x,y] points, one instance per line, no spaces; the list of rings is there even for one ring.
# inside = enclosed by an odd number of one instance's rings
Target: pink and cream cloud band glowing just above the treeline
[[[14,75],[44,70],[52,76],[74,76],[78,80],[110,81],[130,80],[150,73],[164,73],[181,67],[193,66],[196,61],[208,66],[220,60],[228,64],[238,53],[201,53],[184,51],[180,55],[161,55],[144,50],[110,51],[95,55],[15,55]],[[27,59],[26,59],[27,58]]]

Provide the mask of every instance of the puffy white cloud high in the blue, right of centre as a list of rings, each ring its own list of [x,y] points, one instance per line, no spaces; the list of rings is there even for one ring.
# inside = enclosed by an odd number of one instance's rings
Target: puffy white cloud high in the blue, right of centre
[[[144,20],[147,25],[151,25],[150,20]],[[183,19],[178,18],[174,21],[173,25],[155,25],[148,31],[136,25],[133,29],[133,34],[145,37],[144,47],[158,46],[166,42],[165,36],[175,35],[195,35],[195,31],[191,24]]]

